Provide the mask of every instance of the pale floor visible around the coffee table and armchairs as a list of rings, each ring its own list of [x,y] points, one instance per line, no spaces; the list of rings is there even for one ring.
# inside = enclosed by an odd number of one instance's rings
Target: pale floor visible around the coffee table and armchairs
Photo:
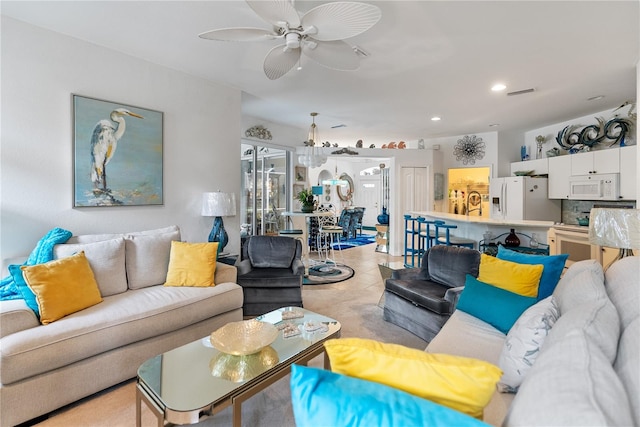
[[[383,292],[378,263],[400,261],[361,246],[344,253],[344,262],[353,266],[351,279],[330,285],[303,286],[305,308],[337,319],[342,337],[360,337],[424,349],[426,342],[412,333],[382,319],[378,307]],[[309,365],[321,367],[323,356]],[[96,373],[99,375],[99,373]],[[135,380],[112,387],[80,402],[56,411],[39,427],[133,427],[135,426]],[[156,426],[151,411],[143,405],[143,426]],[[197,424],[200,427],[231,426],[231,408]],[[289,376],[276,382],[242,405],[242,425],[251,427],[295,426],[291,409]]]

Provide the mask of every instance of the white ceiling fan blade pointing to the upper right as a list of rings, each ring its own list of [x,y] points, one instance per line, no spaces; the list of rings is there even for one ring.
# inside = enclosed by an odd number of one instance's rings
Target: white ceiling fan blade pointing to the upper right
[[[380,8],[366,3],[335,2],[314,7],[302,17],[303,28],[314,26],[321,41],[343,40],[373,27],[382,16]]]

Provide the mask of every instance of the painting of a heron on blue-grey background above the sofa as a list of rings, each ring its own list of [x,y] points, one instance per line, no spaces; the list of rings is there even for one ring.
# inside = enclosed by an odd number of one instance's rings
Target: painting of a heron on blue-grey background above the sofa
[[[163,113],[72,95],[73,206],[163,204]]]

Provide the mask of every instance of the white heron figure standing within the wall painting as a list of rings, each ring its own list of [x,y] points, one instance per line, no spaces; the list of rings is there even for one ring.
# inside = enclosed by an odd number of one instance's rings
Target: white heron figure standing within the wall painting
[[[107,164],[118,148],[118,141],[124,135],[126,122],[124,116],[143,119],[139,114],[125,108],[117,108],[111,112],[110,118],[117,123],[115,126],[109,120],[100,120],[93,129],[91,136],[91,181],[94,192],[109,192],[107,187]]]

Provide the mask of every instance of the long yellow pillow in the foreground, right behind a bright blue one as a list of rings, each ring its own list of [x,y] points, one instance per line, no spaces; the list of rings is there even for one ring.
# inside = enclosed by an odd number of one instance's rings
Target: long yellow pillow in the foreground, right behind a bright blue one
[[[502,376],[500,368],[482,360],[397,344],[343,338],[324,346],[333,372],[385,384],[480,419]]]

